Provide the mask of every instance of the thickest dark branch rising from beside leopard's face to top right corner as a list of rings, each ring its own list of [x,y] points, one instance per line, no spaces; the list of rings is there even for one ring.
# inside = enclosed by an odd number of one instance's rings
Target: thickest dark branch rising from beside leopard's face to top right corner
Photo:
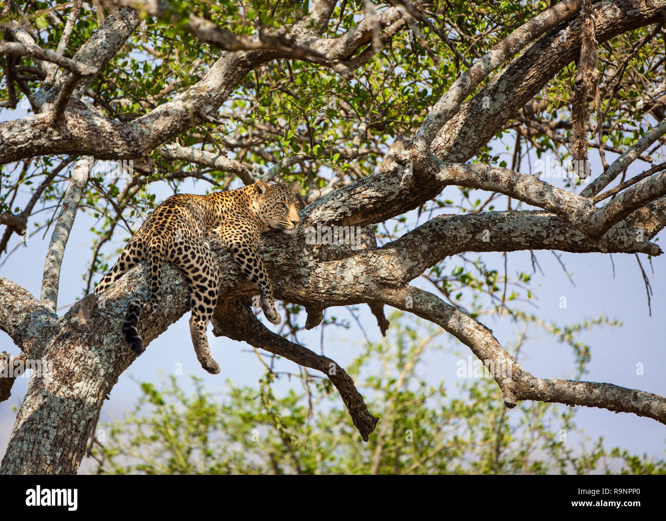
[[[621,0],[597,4],[597,42],[603,43],[623,31],[660,21],[664,7],[666,1],[663,0],[650,5],[630,5]],[[464,163],[488,143],[506,121],[515,117],[517,111],[533,99],[558,71],[577,57],[580,28],[576,20],[541,37],[508,65],[492,84],[465,103],[438,133],[432,144],[434,153],[447,163]],[[567,37],[561,38],[564,30]],[[436,197],[443,186],[429,179],[427,172],[420,171],[418,161],[411,155],[406,155],[404,159],[412,161],[416,175],[410,175],[405,167],[391,163],[312,203],[308,219],[311,223],[319,221],[330,225],[380,223]]]

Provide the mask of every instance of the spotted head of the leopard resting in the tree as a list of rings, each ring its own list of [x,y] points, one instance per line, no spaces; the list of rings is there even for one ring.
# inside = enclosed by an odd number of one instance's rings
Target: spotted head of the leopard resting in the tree
[[[259,220],[262,232],[280,229],[294,235],[298,229],[298,206],[294,188],[284,183],[266,185],[262,181],[254,183],[254,191],[259,205]]]

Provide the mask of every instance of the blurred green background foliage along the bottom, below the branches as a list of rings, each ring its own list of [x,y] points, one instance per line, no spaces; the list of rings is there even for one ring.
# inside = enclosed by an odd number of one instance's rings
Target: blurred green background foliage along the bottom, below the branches
[[[487,370],[464,368],[469,377],[456,388],[428,384],[428,358],[456,353],[437,328],[398,314],[392,324],[348,368],[381,418],[367,444],[325,378],[310,376],[307,392],[283,384],[278,396],[272,384],[288,375],[270,369],[258,388],[229,380],[219,394],[196,376],[188,394],[171,376],[159,386],[141,384],[134,412],[98,426],[90,452],[97,473],[666,473],[665,461],[608,448],[603,438],[573,441],[582,433],[571,408],[523,402],[507,411]],[[528,343],[520,338],[513,354]]]

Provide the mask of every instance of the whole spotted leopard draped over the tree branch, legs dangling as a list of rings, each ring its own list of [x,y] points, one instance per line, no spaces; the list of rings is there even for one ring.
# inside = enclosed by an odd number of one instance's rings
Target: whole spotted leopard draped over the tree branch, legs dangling
[[[208,195],[176,194],[165,199],[143,221],[139,230],[95,287],[95,294],[107,290],[139,262],[147,260],[149,292],[129,304],[122,332],[137,356],[145,351],[139,334],[139,320],[145,322],[161,302],[165,262],[184,274],[189,289],[190,336],[202,368],[220,372],[212,358],[206,327],[218,300],[220,273],[211,243],[230,251],[245,278],[256,284],[264,316],[273,324],[282,318],[275,308],[273,290],[258,254],[260,234],[281,230],[294,236],[300,218],[298,185],[255,181],[244,187],[214,191]]]

